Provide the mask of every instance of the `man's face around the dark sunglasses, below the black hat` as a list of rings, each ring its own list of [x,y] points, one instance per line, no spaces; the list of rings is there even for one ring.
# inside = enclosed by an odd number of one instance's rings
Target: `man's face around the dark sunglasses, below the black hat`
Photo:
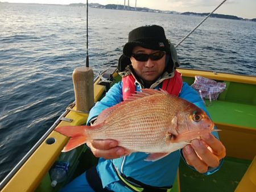
[[[152,54],[159,52],[158,50],[146,49],[143,47],[134,47],[133,54],[143,53],[143,54]],[[162,53],[161,53],[162,54]],[[134,56],[135,57],[135,56]],[[131,65],[135,73],[146,82],[154,83],[164,72],[166,68],[166,54],[159,60],[151,60],[150,58],[147,61],[138,61],[131,56]]]

